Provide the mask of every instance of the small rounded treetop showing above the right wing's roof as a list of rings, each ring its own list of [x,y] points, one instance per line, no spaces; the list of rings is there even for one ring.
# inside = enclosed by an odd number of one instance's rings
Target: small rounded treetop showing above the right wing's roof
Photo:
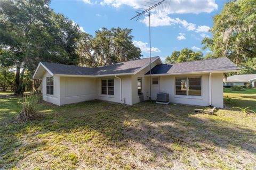
[[[181,51],[174,51],[171,56],[167,56],[165,62],[168,64],[203,60],[202,52],[194,52],[191,49],[184,48]]]

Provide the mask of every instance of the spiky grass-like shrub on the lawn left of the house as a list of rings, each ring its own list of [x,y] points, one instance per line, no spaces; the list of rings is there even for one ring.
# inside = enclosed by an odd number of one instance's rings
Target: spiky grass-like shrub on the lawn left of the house
[[[40,97],[38,95],[25,96],[20,100],[21,111],[17,115],[16,120],[18,121],[29,121],[34,120],[37,115],[37,104],[40,101]]]

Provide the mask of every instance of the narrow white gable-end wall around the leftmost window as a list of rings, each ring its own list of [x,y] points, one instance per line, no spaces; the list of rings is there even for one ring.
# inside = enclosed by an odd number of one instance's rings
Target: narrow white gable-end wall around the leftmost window
[[[51,75],[45,71],[43,74],[43,100],[53,103],[55,105],[60,105],[60,77],[53,77],[53,95],[46,94],[46,77],[51,77]]]

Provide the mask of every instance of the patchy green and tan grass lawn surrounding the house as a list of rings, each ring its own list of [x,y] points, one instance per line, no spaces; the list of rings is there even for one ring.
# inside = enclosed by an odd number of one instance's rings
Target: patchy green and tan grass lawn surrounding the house
[[[256,91],[256,90],[255,90]],[[244,92],[244,91],[242,91]],[[256,92],[225,94],[256,109]],[[255,169],[256,115],[198,106],[87,101],[38,105],[15,123],[17,98],[0,99],[0,169]]]

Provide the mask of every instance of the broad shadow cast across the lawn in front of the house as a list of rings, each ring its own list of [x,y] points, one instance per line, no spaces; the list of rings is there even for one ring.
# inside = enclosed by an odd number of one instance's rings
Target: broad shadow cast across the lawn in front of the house
[[[206,150],[207,146],[228,148],[232,145],[256,152],[255,131],[214,119],[210,115],[207,118],[195,117],[191,114],[194,108],[187,105],[157,105],[149,101],[134,106],[98,100],[60,107],[45,104],[41,107],[41,112],[47,113],[44,118],[21,124],[8,122],[0,127],[0,145],[3,146],[0,147],[3,148],[0,154],[23,155],[38,146],[20,150],[21,145],[27,146],[19,137],[20,134],[35,138],[49,132],[66,134],[63,139],[66,142],[93,141],[104,147],[128,147],[131,142],[138,143],[161,157],[172,152],[175,149],[173,145],[196,150],[197,142],[202,143]],[[3,116],[6,113],[1,118]],[[3,121],[12,117],[4,118]],[[84,136],[90,134],[90,138],[80,137],[81,131],[84,131]],[[210,148],[209,151],[214,150]],[[8,163],[15,161],[18,160]]]

